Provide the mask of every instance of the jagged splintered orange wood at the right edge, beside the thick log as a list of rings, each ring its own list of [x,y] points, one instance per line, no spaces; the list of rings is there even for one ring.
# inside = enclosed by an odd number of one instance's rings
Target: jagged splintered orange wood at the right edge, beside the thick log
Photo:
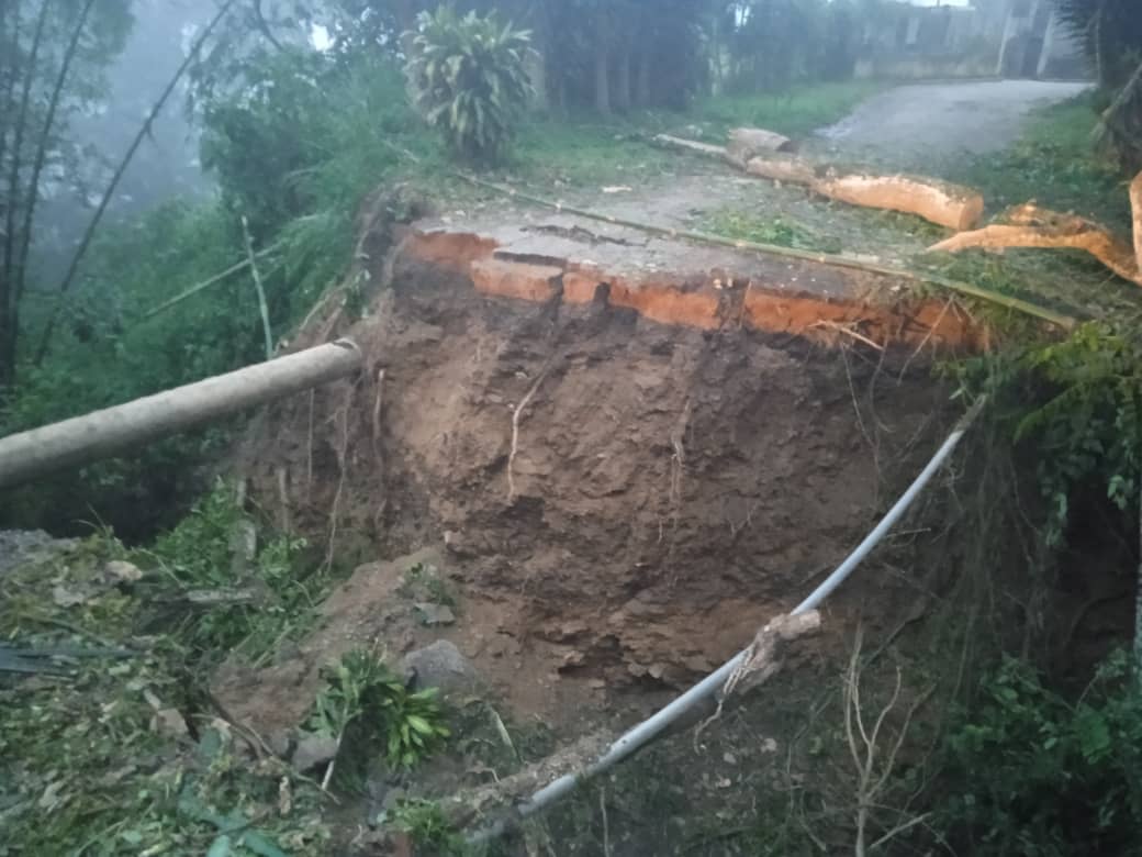
[[[1142,286],[1142,248],[1139,247],[1142,182],[1137,178],[1131,185],[1131,194],[1134,203],[1134,247],[1099,223],[1027,203],[1008,211],[1003,217],[1006,223],[962,232],[933,245],[930,250],[955,253],[970,247],[1086,250],[1124,280]]]

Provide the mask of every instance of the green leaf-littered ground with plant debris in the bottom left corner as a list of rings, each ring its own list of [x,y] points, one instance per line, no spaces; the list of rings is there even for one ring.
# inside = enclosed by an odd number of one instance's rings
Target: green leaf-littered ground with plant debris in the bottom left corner
[[[127,555],[98,535],[5,572],[5,643],[67,656],[0,673],[0,855],[322,852],[319,790],[215,719],[183,640],[138,635]]]

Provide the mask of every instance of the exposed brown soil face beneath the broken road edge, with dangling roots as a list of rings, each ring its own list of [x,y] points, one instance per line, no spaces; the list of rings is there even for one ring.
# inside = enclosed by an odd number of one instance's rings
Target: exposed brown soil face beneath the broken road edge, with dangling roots
[[[444,546],[452,636],[524,708],[561,680],[708,672],[851,550],[944,427],[944,392],[898,377],[911,346],[661,325],[605,289],[488,297],[455,263],[401,256],[339,331],[367,376],[266,414],[244,467],[338,548]]]

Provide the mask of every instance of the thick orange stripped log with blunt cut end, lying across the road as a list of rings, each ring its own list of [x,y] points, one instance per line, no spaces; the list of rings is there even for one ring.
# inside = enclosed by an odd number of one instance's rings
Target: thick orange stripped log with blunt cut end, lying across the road
[[[972,229],[983,215],[983,197],[978,191],[926,176],[827,175],[813,183],[813,190],[842,202],[903,211],[957,231]]]

